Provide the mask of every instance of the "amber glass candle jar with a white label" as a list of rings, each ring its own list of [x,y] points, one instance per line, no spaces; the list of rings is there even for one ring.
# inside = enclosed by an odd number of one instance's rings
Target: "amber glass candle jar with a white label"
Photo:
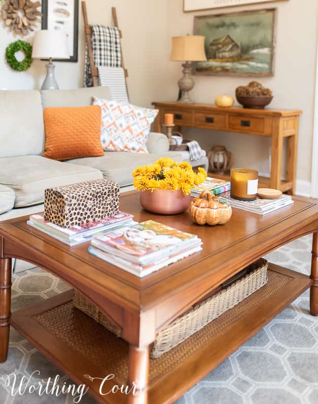
[[[231,169],[231,198],[255,201],[258,188],[258,171],[249,168]]]

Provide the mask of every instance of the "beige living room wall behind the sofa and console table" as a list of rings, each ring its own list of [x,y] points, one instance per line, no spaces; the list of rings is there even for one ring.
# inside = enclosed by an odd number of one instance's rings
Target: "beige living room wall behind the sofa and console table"
[[[176,99],[177,80],[181,64],[169,62],[170,37],[191,34],[193,16],[211,14],[183,12],[183,0],[87,0],[89,21],[92,24],[111,24],[111,6],[117,7],[123,31],[123,50],[128,68],[128,89],[132,102],[144,106],[151,101]],[[248,9],[264,8],[263,4]],[[278,8],[276,71],[274,77],[261,82],[275,94],[271,104],[278,108],[303,109],[300,120],[300,140],[297,179],[311,179],[311,149],[314,115],[315,67],[317,49],[318,1],[301,0],[273,2]],[[247,7],[221,9],[221,12],[240,11]],[[220,9],[215,11],[220,13]],[[60,88],[81,87],[83,82],[84,30],[80,8],[79,63],[56,63],[56,77]],[[32,37],[26,38],[32,42]],[[0,48],[15,40],[0,26]],[[0,88],[39,88],[45,76],[45,62],[34,60],[25,72],[10,69],[0,58]],[[249,78],[197,76],[192,97],[197,102],[213,102],[219,94],[234,95],[235,87],[244,85]],[[210,149],[213,144],[224,144],[234,153],[235,165],[259,169],[269,173],[269,139],[252,135],[237,135],[191,130],[186,137],[198,139]]]

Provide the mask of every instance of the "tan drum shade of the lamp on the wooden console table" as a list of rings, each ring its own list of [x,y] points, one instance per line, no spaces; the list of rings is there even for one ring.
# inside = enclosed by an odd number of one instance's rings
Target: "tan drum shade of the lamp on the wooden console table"
[[[170,60],[175,62],[205,61],[204,38],[202,35],[173,36]]]

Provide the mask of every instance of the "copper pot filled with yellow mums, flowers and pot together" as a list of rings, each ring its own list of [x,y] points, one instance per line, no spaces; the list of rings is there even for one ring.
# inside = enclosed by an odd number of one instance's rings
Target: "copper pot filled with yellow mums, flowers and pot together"
[[[177,214],[188,209],[191,188],[207,177],[203,168],[192,170],[187,162],[176,163],[162,158],[149,166],[135,168],[133,185],[140,193],[144,209],[160,214]]]

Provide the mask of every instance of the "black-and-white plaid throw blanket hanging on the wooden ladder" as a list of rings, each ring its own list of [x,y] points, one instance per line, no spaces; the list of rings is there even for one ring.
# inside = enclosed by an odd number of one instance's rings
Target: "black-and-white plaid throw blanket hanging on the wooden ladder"
[[[121,67],[121,49],[118,28],[103,27],[102,25],[92,25],[92,48],[94,65]],[[92,72],[87,44],[85,48],[84,67],[84,87],[92,87]]]

